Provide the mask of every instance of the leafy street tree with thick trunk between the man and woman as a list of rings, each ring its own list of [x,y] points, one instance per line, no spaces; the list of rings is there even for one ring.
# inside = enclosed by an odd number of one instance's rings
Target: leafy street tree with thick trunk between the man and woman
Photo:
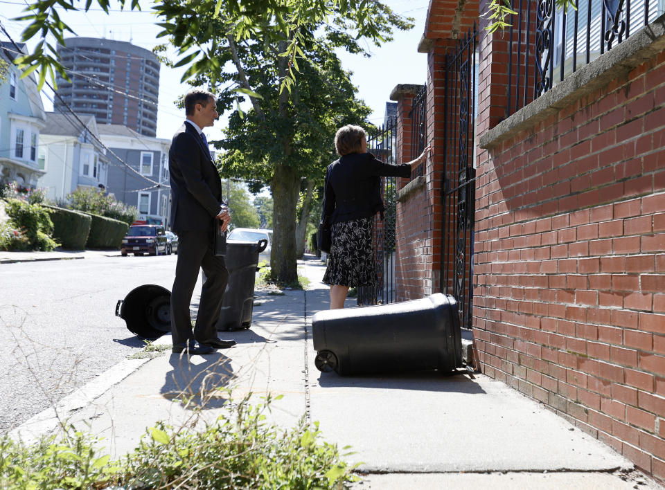
[[[292,91],[281,91],[288,68],[276,44],[232,44],[232,49],[220,50],[220,63],[229,60],[236,66],[235,73],[223,75],[224,81],[244,80],[257,94],[250,97],[247,114],[236,108],[229,117],[226,137],[218,142],[226,150],[220,173],[269,185],[272,278],[294,282],[314,191],[323,184],[326,165],[336,158],[335,131],[347,123],[363,124],[370,109],[355,98],[349,74],[334,53],[336,43],[313,35],[303,45],[307,61],[301,63]],[[235,98],[231,89],[222,90],[220,110],[231,109]]]

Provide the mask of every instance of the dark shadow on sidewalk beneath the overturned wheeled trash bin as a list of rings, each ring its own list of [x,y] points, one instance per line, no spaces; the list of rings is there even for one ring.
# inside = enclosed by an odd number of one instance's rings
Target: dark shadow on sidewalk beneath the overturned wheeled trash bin
[[[400,374],[366,374],[362,376],[339,376],[332,372],[319,373],[322,388],[378,388],[380,390],[418,390],[429,392],[458,392],[485,394],[486,391],[465,376],[466,370],[450,373],[438,371],[414,371]]]

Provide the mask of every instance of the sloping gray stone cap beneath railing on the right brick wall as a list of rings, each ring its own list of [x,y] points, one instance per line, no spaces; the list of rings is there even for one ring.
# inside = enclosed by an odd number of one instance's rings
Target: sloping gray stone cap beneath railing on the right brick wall
[[[481,148],[492,148],[533,127],[541,120],[556,114],[587,94],[605,87],[612,80],[621,78],[636,66],[644,63],[665,49],[665,14],[640,29],[626,41],[597,57],[562,82],[545,92],[512,116],[481,134]]]

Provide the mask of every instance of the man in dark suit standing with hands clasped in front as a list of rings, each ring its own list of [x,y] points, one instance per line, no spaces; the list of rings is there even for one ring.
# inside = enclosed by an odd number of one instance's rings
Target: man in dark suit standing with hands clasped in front
[[[213,253],[213,233],[216,220],[222,221],[222,230],[231,222],[229,208],[222,201],[222,180],[202,132],[219,117],[215,96],[192,89],[185,96],[185,114],[186,120],[173,136],[168,152],[171,228],[179,239],[171,291],[172,352],[212,354],[236,344],[220,340],[215,327],[229,273],[224,257]],[[189,305],[199,269],[203,269],[206,281],[192,332]]]

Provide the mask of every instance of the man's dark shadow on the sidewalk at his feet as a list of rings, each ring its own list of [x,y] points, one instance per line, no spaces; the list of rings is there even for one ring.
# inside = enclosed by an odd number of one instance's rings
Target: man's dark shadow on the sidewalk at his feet
[[[206,356],[171,354],[160,393],[166,399],[180,401],[184,408],[220,408],[228,401],[226,388],[235,377],[231,359],[220,352]]]

